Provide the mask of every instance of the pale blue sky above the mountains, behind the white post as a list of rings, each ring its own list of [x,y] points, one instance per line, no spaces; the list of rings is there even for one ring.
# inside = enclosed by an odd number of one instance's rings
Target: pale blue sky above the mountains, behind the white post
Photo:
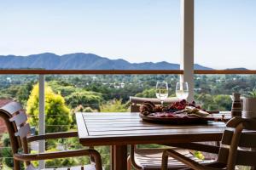
[[[256,69],[256,1],[195,0],[195,62]],[[180,61],[179,0],[0,0],[0,54]]]

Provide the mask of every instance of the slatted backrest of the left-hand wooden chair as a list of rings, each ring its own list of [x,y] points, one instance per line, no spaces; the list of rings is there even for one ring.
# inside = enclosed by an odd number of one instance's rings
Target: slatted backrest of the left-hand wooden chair
[[[27,116],[20,103],[10,102],[4,105],[0,108],[0,117],[3,118],[8,129],[13,154],[20,150],[28,153],[26,137],[31,132],[31,128],[26,122]],[[26,161],[26,165],[29,164],[30,162]]]

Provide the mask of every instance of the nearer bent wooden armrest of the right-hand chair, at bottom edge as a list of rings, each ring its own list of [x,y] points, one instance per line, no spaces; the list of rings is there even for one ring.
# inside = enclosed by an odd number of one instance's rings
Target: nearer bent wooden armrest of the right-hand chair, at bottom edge
[[[167,170],[169,156],[176,159],[177,161],[183,162],[185,165],[187,165],[188,167],[195,169],[195,170],[217,170],[218,169],[218,168],[214,168],[214,167],[202,166],[200,163],[193,161],[193,160],[189,159],[188,157],[183,156],[182,154],[170,149],[170,150],[165,150],[163,152],[161,170]]]

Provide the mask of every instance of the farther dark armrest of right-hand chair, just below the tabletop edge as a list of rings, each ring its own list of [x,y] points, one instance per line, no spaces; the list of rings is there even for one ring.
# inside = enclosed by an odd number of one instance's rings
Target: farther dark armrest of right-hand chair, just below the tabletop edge
[[[198,150],[198,151],[203,151],[203,152],[212,153],[212,154],[218,154],[218,151],[219,151],[218,146],[213,146],[208,144],[199,144],[199,143],[184,143],[184,144],[179,143],[179,144],[163,144],[163,145],[178,147],[178,148],[183,148],[188,150]]]

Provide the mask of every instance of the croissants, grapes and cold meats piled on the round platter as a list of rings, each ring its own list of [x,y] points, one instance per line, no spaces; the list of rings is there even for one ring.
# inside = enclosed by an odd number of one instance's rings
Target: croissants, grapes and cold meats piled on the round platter
[[[210,116],[207,111],[201,110],[201,106],[195,105],[195,101],[189,103],[185,99],[171,105],[154,105],[146,101],[140,106],[143,116],[169,117],[169,118],[188,118],[190,116]]]

